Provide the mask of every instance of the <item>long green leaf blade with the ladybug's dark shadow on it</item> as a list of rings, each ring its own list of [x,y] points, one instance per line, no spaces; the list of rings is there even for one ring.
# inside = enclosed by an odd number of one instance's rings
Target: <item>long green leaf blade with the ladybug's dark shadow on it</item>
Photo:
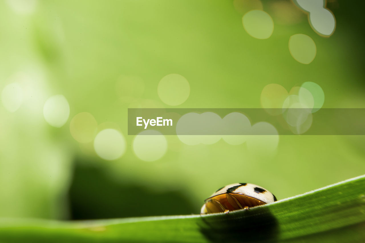
[[[1,219],[1,242],[364,242],[365,175],[228,214]]]

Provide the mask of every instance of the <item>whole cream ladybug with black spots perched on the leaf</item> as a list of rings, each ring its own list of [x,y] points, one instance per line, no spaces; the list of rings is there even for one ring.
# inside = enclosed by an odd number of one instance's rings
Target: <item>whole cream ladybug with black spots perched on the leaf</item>
[[[277,201],[274,194],[261,186],[250,183],[235,183],[218,189],[205,199],[200,213],[229,213]]]

